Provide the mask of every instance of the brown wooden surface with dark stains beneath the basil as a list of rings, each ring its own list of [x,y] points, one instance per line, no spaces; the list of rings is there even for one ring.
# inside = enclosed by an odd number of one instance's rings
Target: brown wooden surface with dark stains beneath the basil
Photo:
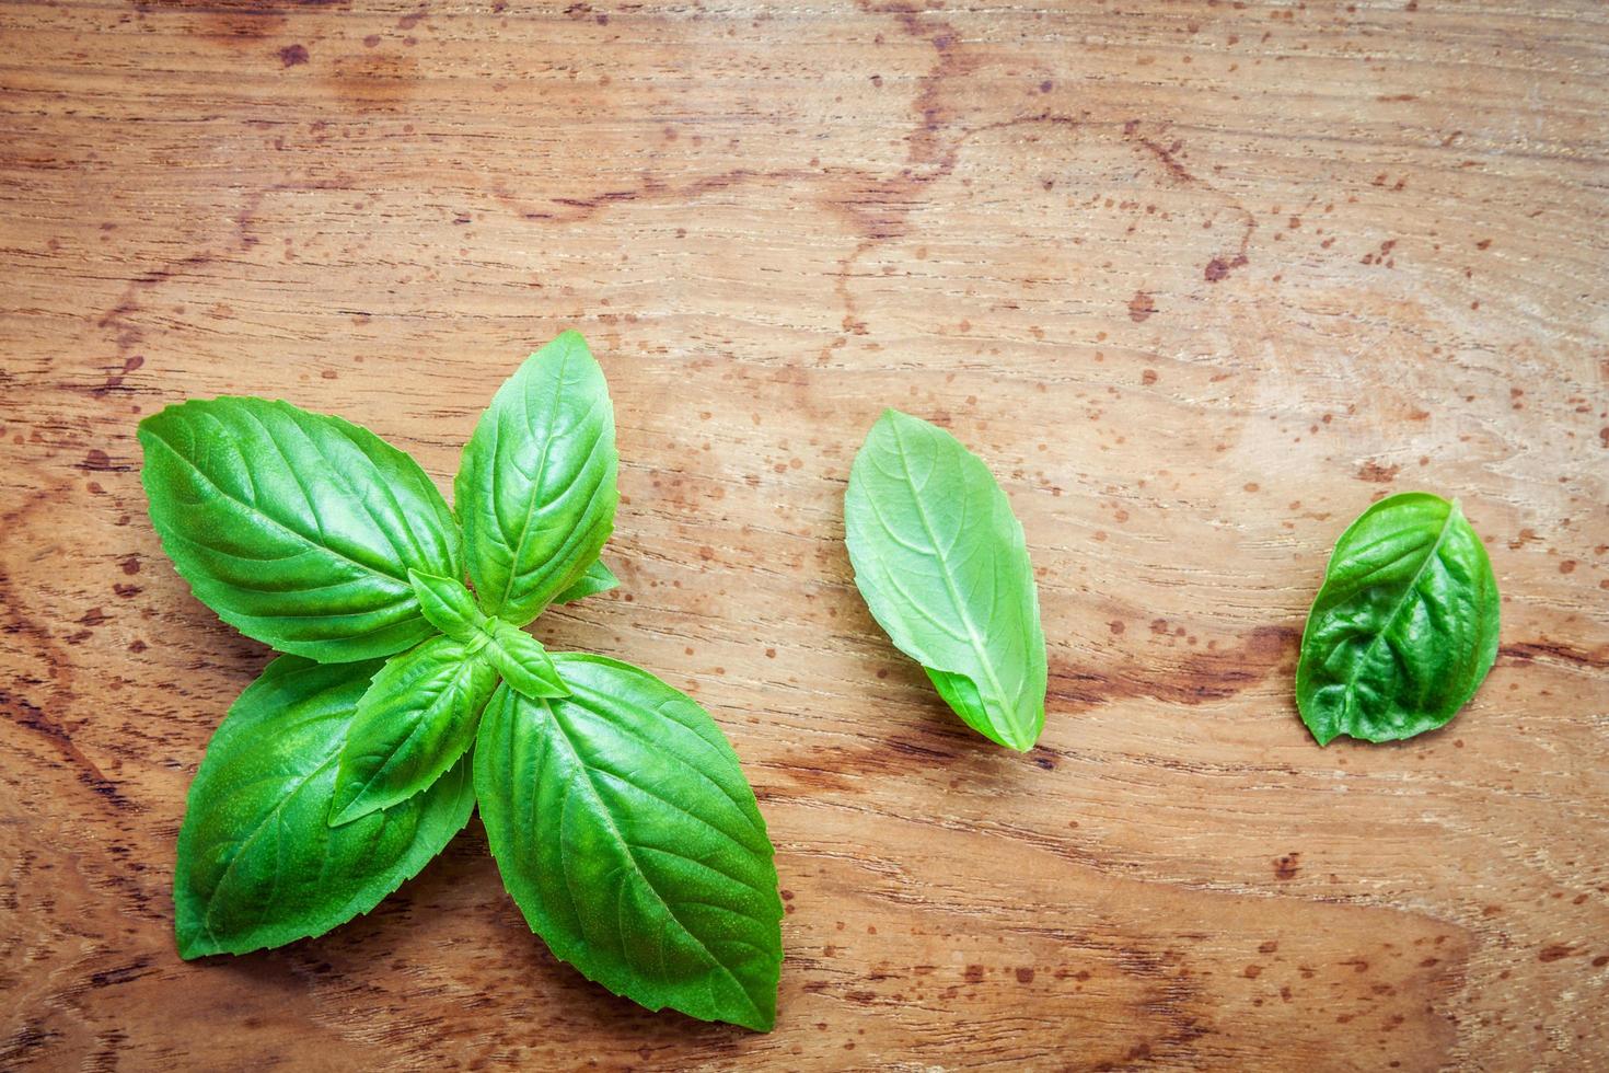
[[[1609,1065],[1603,5],[6,0],[0,43],[0,1067]],[[557,964],[478,824],[182,964],[183,793],[267,653],[159,553],[135,421],[283,396],[446,487],[565,327],[623,586],[537,634],[735,743],[776,1033]],[[883,405],[1027,528],[1030,756],[851,586]],[[1308,600],[1414,487],[1501,655],[1443,732],[1321,750]]]

